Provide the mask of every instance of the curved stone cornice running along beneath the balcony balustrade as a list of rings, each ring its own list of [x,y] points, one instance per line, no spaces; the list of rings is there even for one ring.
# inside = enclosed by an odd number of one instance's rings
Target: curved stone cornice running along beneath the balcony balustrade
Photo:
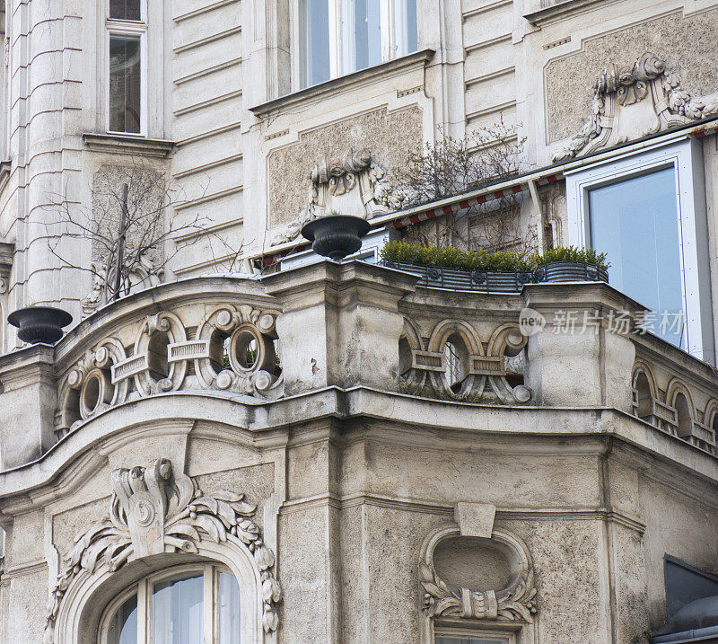
[[[36,490],[27,497],[31,505],[32,497],[44,498],[43,486],[61,476],[69,463],[88,450],[96,450],[119,431],[132,433],[142,425],[145,432],[151,432],[154,423],[175,422],[178,431],[184,432],[187,419],[246,428],[246,436],[245,432],[230,432],[232,440],[247,441],[254,447],[260,446],[267,435],[276,436],[277,432],[298,425],[311,428],[311,423],[329,418],[371,419],[372,427],[381,426],[381,440],[427,449],[466,449],[476,445],[480,435],[491,441],[492,449],[500,451],[529,454],[538,449],[541,454],[567,456],[574,447],[581,448],[582,453],[602,453],[607,441],[616,441],[616,446],[625,446],[632,453],[638,450],[639,455],[649,458],[650,466],[645,459],[639,463],[642,472],[648,467],[661,479],[670,472],[670,480],[685,494],[695,495],[696,490],[714,490],[718,486],[718,459],[714,456],[615,409],[479,405],[363,387],[349,390],[328,387],[279,401],[259,402],[245,396],[220,394],[212,398],[213,404],[207,405],[206,393],[159,394],[98,415],[38,461],[0,472],[4,510],[10,507],[10,498],[24,497],[29,490]],[[153,418],[153,423],[148,425],[147,418]],[[507,427],[521,427],[521,432],[507,432]],[[372,428],[364,431],[372,434]],[[507,438],[510,440],[504,440]],[[705,492],[698,494],[708,502]]]

